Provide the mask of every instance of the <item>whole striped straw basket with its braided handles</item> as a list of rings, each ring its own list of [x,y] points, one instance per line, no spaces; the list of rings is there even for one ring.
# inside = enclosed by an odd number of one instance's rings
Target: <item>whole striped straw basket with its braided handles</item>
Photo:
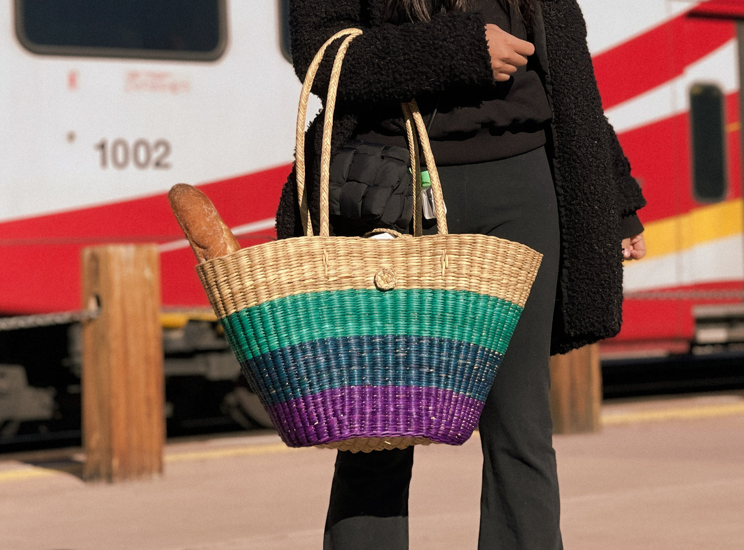
[[[251,387],[292,447],[343,450],[462,444],[522,313],[542,255],[483,235],[448,235],[423,120],[403,105],[411,163],[420,146],[432,179],[438,234],[328,236],[330,132],[341,60],[358,29],[315,56],[301,94],[296,174],[306,236],[244,248],[197,271]],[[320,235],[304,188],[304,120],[325,49],[336,54],[321,153]]]

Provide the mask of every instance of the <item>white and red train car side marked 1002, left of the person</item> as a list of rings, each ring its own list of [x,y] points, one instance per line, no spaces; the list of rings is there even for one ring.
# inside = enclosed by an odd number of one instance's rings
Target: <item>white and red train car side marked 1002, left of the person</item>
[[[0,3],[0,312],[78,308],[80,247],[103,242],[164,244],[164,304],[204,304],[178,182],[207,184],[246,245],[272,236],[300,89],[283,9]]]

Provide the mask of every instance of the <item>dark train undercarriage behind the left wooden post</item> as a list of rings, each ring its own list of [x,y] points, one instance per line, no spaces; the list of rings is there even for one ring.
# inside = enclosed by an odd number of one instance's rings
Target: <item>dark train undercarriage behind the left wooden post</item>
[[[218,323],[201,317],[162,317],[168,436],[271,427]],[[79,444],[82,369],[80,323],[0,331],[0,452]]]

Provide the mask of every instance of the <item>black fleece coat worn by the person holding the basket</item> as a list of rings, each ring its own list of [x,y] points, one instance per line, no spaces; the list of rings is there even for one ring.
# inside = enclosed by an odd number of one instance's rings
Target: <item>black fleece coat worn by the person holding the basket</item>
[[[385,22],[388,0],[292,0],[289,28],[292,59],[302,79],[315,53],[337,31],[356,27],[344,60],[331,140],[332,154],[353,137],[361,115],[387,116],[391,106],[493,81],[484,33],[476,12],[441,13],[430,22]],[[615,132],[603,114],[586,24],[576,0],[540,0],[536,53],[545,69],[553,109],[548,156],[554,171],[561,227],[553,353],[612,337],[622,320],[620,219],[645,204],[630,176]],[[335,47],[315,79],[321,98]],[[322,116],[306,138],[311,217],[317,222]],[[314,207],[314,210],[313,210]],[[280,239],[302,235],[294,172],[277,213]]]

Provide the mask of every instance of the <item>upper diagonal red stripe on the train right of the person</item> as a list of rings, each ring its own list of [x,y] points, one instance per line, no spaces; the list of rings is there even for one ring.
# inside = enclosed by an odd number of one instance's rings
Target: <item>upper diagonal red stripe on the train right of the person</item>
[[[687,65],[716,51],[735,33],[731,22],[691,19],[683,13],[594,56],[594,74],[604,108],[679,77]]]

